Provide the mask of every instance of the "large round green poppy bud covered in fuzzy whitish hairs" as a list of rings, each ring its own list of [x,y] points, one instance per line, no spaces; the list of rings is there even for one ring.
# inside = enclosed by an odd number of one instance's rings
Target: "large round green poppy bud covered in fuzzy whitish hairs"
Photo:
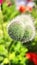
[[[35,26],[31,15],[22,14],[8,24],[9,36],[17,41],[29,42],[35,37]]]

